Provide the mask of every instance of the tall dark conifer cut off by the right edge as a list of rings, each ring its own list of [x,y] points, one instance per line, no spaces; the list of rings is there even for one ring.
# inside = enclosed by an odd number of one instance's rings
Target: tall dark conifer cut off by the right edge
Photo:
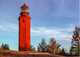
[[[72,55],[80,55],[80,28],[79,27],[75,27],[71,44],[72,46],[71,46],[70,53]]]

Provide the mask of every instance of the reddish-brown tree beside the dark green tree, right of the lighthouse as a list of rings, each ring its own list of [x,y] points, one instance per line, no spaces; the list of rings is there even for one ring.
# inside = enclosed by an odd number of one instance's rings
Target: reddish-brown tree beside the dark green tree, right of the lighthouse
[[[53,55],[58,54],[61,45],[59,45],[54,38],[50,39],[49,45],[48,45],[48,51],[52,53]]]

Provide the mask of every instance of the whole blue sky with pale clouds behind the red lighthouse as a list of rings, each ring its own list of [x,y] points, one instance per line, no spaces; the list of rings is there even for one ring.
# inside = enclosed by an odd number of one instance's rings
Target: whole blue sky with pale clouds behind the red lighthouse
[[[79,0],[0,0],[0,45],[18,48],[18,17],[20,6],[28,3],[31,16],[31,44],[42,38],[55,38],[69,48],[72,31],[79,26]]]

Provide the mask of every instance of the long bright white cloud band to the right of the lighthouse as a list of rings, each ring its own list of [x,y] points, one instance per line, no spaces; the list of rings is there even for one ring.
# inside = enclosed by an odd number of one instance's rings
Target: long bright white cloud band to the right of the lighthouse
[[[47,27],[35,27],[31,28],[32,36],[45,36],[61,39],[71,39],[73,27],[69,28],[47,28]]]

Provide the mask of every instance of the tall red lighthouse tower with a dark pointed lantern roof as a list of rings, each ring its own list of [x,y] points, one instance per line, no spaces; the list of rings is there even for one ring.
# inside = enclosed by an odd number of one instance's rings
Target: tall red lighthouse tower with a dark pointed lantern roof
[[[19,51],[30,49],[30,16],[29,7],[26,4],[21,6],[19,16]]]

